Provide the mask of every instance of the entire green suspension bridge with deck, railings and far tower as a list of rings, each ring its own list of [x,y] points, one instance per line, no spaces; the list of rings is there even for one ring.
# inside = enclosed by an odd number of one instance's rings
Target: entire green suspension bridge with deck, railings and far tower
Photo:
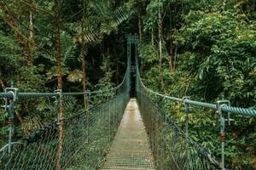
[[[0,93],[9,115],[7,144],[0,149],[0,169],[229,169],[225,164],[225,128],[230,115],[256,116],[256,111],[160,94],[144,86],[137,64],[137,36],[127,38],[127,67],[123,82],[105,91]],[[70,96],[84,96],[87,107],[65,115]],[[55,119],[31,133],[15,137],[15,106],[39,99],[55,103]],[[160,104],[183,105],[184,128],[167,116]],[[100,102],[94,102],[100,101]],[[221,156],[189,138],[189,111],[200,106],[219,116]],[[51,110],[49,109],[49,112]],[[57,114],[64,111],[63,115]]]

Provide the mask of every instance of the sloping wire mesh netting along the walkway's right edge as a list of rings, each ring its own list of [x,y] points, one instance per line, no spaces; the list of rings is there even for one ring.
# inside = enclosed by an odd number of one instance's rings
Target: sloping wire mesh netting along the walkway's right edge
[[[137,92],[157,169],[217,169],[208,150],[189,139],[183,130],[147,95]]]

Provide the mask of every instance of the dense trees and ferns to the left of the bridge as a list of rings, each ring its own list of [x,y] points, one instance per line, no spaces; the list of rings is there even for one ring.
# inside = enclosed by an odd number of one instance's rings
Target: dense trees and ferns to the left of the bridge
[[[125,36],[135,31],[129,24],[134,13],[132,3],[122,1],[1,1],[0,91],[11,85],[20,92],[113,88],[125,73]],[[104,98],[93,97],[90,105]],[[65,97],[63,105],[64,116],[73,116],[83,108],[82,98]],[[19,99],[14,140],[56,116],[55,99]],[[8,139],[7,119],[1,109],[1,147]]]

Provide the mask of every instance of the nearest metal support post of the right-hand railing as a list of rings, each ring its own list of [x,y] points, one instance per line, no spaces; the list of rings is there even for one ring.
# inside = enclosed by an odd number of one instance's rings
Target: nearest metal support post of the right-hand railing
[[[217,112],[219,115],[219,122],[220,122],[220,141],[221,141],[221,162],[220,162],[220,167],[222,170],[225,170],[225,160],[224,160],[224,146],[225,146],[225,126],[226,122],[227,125],[230,125],[230,113],[227,113],[228,119],[225,119],[224,117],[224,112],[222,111],[222,107],[224,106],[230,106],[230,101],[229,100],[218,100],[217,101]]]

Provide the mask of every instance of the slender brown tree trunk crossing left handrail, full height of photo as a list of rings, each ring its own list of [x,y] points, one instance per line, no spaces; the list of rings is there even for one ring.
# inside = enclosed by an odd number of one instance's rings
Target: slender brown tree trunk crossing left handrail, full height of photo
[[[55,31],[56,31],[56,65],[57,65],[57,79],[58,79],[58,89],[62,89],[62,71],[61,71],[61,31],[59,25],[59,16],[60,16],[60,9],[59,9],[59,0],[55,0]],[[59,105],[59,117],[60,117],[60,125],[59,125],[59,140],[58,140],[58,150],[57,150],[57,162],[56,162],[56,169],[61,170],[61,155],[63,151],[63,108]]]

